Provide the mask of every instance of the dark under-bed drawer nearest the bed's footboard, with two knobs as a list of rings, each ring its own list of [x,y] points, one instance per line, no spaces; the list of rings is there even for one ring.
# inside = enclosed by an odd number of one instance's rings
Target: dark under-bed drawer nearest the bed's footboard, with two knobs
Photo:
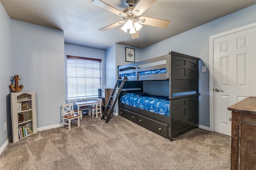
[[[169,124],[160,122],[149,117],[144,117],[142,115],[137,115],[137,124],[141,125],[158,135],[168,138],[168,128]]]

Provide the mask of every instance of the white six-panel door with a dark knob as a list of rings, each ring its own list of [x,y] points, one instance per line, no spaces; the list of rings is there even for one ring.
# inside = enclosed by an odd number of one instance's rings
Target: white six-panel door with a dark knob
[[[256,96],[256,27],[214,39],[214,131],[231,135],[231,106]]]

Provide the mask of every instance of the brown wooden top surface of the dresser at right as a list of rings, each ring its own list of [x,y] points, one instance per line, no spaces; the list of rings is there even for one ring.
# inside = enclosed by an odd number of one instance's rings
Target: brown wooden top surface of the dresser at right
[[[232,106],[228,110],[256,115],[256,97],[250,96]]]

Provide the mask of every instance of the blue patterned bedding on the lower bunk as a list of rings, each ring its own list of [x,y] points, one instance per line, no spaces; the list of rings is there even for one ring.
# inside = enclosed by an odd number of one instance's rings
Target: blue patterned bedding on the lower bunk
[[[169,98],[143,92],[126,93],[120,98],[122,104],[138,107],[165,116],[170,116]]]

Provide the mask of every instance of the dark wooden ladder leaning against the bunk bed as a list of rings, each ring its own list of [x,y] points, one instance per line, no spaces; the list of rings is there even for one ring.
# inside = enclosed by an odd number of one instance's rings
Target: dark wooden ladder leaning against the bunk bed
[[[108,123],[110,116],[113,113],[114,107],[116,105],[118,97],[119,97],[121,90],[124,86],[124,82],[126,80],[127,80],[127,77],[125,76],[123,79],[122,79],[122,77],[119,77],[118,80],[116,81],[116,85],[111,93],[110,98],[108,99],[108,103],[106,104],[105,110],[101,117],[101,119],[104,119],[104,117],[106,117],[105,123]]]

